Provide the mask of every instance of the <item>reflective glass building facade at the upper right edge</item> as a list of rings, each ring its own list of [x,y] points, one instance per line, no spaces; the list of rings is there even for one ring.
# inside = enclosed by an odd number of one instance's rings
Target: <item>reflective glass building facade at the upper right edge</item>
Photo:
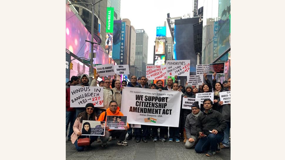
[[[202,64],[225,63],[225,74],[218,82],[230,77],[230,0],[205,0],[203,3]]]

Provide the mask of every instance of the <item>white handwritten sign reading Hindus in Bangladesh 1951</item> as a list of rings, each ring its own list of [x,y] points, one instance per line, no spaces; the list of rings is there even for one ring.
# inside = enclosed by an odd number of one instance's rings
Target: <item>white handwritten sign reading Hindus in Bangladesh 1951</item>
[[[94,107],[104,107],[103,87],[70,86],[70,107],[85,107],[93,103]]]

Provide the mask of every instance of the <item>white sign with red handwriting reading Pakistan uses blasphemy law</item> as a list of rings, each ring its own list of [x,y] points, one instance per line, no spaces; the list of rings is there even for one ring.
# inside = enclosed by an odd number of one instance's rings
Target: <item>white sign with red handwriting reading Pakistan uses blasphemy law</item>
[[[146,78],[148,78],[148,80],[167,79],[166,65],[147,65]]]

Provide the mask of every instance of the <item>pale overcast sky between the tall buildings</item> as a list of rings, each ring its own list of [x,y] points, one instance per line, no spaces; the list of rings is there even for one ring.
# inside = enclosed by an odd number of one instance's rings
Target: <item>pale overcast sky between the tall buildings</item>
[[[192,17],[193,0],[121,0],[121,18],[128,18],[135,29],[144,29],[148,36],[147,63],[153,63],[153,46],[155,45],[156,27],[164,26],[167,13],[170,17]],[[171,37],[166,21],[166,36]]]

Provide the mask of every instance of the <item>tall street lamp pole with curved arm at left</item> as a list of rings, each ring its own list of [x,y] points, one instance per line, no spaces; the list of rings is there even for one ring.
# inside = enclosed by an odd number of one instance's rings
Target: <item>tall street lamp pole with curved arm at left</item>
[[[80,3],[83,3],[83,4],[90,4],[92,5],[92,18],[91,18],[91,53],[90,53],[90,68],[89,68],[89,84],[91,84],[91,74],[93,73],[93,34],[94,34],[94,5],[99,3],[100,1],[103,1],[103,0],[99,0],[98,2],[96,3],[86,3],[86,2],[75,2],[75,3],[71,3],[71,4],[80,4]],[[71,5],[71,4],[68,4],[68,5]],[[99,44],[99,43],[96,43],[96,44]]]

